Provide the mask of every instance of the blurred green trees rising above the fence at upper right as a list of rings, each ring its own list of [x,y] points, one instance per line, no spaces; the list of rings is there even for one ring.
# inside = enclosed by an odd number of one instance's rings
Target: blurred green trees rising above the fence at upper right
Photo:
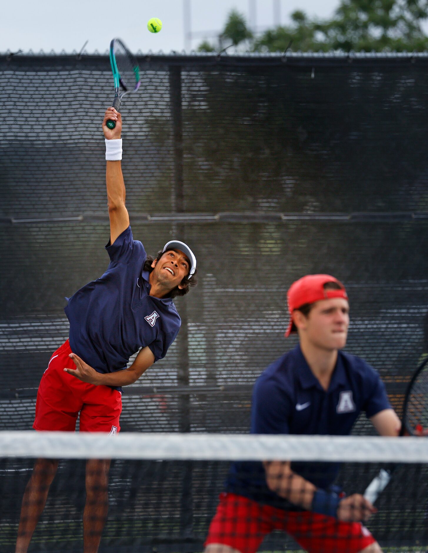
[[[330,19],[310,19],[304,12],[295,11],[290,25],[269,29],[254,38],[245,18],[231,12],[219,35],[219,45],[228,39],[235,45],[249,41],[250,49],[256,52],[283,52],[290,43],[294,51],[306,52],[424,51],[428,49],[428,37],[421,23],[427,18],[428,0],[341,0]]]

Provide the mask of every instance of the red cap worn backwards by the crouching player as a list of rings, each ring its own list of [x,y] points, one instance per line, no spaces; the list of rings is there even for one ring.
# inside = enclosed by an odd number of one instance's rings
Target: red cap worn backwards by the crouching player
[[[340,290],[324,290],[324,284],[335,282],[339,284]],[[305,304],[314,304],[315,301],[327,300],[330,298],[348,299],[345,286],[331,275],[306,275],[293,282],[287,292],[288,311],[290,313],[290,322],[285,336],[292,332],[297,332],[294,326],[292,313]]]

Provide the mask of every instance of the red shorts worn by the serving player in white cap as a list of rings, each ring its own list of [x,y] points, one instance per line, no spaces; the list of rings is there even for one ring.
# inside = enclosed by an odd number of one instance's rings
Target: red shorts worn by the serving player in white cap
[[[122,410],[120,392],[87,384],[64,372],[64,368],[76,368],[69,353],[67,340],[50,358],[39,384],[33,428],[74,432],[80,411],[81,432],[116,434]]]

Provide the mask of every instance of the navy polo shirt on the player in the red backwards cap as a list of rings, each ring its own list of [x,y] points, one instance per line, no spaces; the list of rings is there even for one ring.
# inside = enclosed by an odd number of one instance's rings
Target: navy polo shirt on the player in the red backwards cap
[[[379,374],[363,359],[339,351],[325,391],[300,346],[277,359],[256,380],[251,405],[251,434],[346,436],[362,411],[370,418],[390,403]],[[291,468],[316,487],[329,489],[339,463],[292,462]],[[235,462],[228,492],[287,510],[302,510],[272,492],[261,462]]]

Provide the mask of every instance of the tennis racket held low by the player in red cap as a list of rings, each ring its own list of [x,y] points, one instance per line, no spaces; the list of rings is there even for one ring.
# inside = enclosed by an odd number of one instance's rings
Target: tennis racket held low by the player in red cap
[[[428,429],[428,356],[416,369],[406,389],[401,418],[400,436],[408,432],[410,436],[420,436],[424,429]],[[364,497],[372,504],[387,487],[395,469],[382,468],[366,488]]]

